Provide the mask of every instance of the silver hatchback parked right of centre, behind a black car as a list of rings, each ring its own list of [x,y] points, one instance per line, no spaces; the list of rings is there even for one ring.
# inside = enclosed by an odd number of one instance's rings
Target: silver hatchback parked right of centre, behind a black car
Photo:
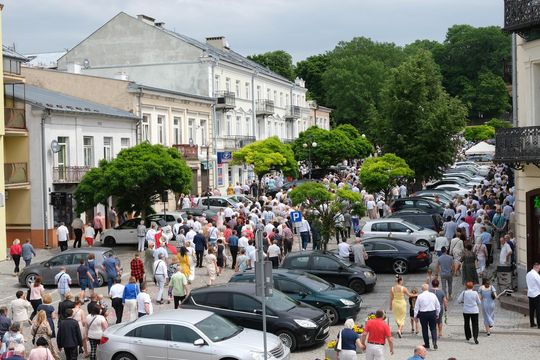
[[[429,248],[435,245],[437,232],[416,226],[403,219],[383,218],[367,221],[360,230],[360,236],[364,239],[372,237],[403,239]]]

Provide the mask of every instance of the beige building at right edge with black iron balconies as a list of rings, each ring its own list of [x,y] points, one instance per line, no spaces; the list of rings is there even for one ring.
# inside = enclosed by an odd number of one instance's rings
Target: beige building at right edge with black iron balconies
[[[540,4],[505,0],[505,30],[516,34],[517,118],[498,130],[494,161],[515,171],[518,281],[540,261]]]

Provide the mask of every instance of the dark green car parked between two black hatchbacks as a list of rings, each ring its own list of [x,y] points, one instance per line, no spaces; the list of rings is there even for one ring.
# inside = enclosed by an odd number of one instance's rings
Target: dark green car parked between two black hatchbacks
[[[320,277],[303,271],[277,269],[272,271],[274,289],[296,301],[315,306],[326,313],[330,325],[339,320],[356,318],[362,298],[355,291],[329,283]],[[246,271],[234,275],[229,282],[255,283],[255,272]]]

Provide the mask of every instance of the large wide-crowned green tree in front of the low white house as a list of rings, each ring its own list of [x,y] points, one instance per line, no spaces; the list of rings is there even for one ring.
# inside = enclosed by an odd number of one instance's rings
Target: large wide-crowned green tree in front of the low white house
[[[78,213],[114,196],[120,211],[144,216],[163,192],[187,193],[190,188],[191,169],[178,151],[145,142],[120,151],[111,161],[102,160],[83,176],[75,199]]]

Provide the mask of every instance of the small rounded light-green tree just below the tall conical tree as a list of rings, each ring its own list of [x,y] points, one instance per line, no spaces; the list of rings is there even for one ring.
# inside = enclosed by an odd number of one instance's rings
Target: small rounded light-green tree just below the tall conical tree
[[[413,177],[414,171],[407,162],[392,153],[368,158],[360,169],[360,182],[366,191],[376,193],[382,190],[387,198],[392,187]]]

